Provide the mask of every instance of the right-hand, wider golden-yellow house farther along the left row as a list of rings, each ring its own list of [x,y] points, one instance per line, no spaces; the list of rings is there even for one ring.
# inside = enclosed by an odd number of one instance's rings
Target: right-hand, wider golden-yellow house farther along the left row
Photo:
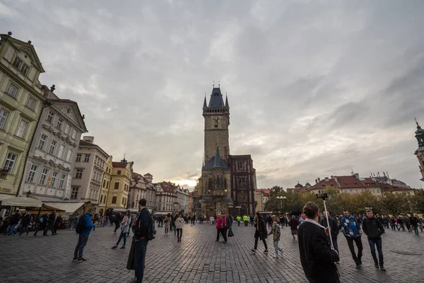
[[[133,163],[127,162],[125,158],[121,162],[112,162],[107,209],[126,209],[129,199],[132,165]]]

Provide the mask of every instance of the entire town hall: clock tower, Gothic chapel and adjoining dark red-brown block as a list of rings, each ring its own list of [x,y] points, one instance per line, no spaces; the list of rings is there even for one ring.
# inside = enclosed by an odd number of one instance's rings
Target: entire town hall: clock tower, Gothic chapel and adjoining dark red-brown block
[[[209,103],[205,97],[203,116],[204,164],[196,186],[201,215],[254,214],[256,171],[250,155],[230,155],[230,106],[219,87],[213,88]]]

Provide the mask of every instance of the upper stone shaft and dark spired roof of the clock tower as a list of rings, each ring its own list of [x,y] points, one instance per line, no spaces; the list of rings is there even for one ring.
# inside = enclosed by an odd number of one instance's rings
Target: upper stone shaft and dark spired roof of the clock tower
[[[223,100],[220,88],[213,88],[209,104],[204,100],[203,116],[205,119],[205,162],[216,155],[218,147],[220,157],[228,163],[230,156],[228,126],[230,125],[230,107],[228,98]]]

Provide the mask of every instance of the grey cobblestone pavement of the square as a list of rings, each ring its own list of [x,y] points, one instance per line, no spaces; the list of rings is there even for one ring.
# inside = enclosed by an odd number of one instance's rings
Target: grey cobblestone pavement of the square
[[[282,229],[279,259],[273,258],[272,238],[267,239],[268,255],[261,242],[256,255],[249,253],[254,228],[243,224],[233,225],[235,236],[226,244],[214,242],[216,230],[209,224],[186,225],[182,243],[177,243],[173,231],[170,235],[164,235],[163,228],[157,231],[148,243],[144,282],[306,282],[298,241],[288,227]],[[78,240],[71,231],[59,231],[57,236],[1,236],[1,282],[129,282],[134,277],[134,271],[126,270],[130,245],[111,250],[119,236],[112,232],[107,227],[91,233],[84,251],[88,261],[83,263],[71,261]],[[339,236],[341,282],[423,282],[423,237],[424,233],[387,231],[383,235],[387,272],[381,272],[375,270],[365,238],[363,267],[356,270],[346,240]]]

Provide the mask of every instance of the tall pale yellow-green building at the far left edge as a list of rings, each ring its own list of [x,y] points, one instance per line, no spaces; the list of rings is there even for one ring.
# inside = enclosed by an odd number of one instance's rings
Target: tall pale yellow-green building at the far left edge
[[[18,194],[45,96],[31,42],[0,35],[0,200]]]

